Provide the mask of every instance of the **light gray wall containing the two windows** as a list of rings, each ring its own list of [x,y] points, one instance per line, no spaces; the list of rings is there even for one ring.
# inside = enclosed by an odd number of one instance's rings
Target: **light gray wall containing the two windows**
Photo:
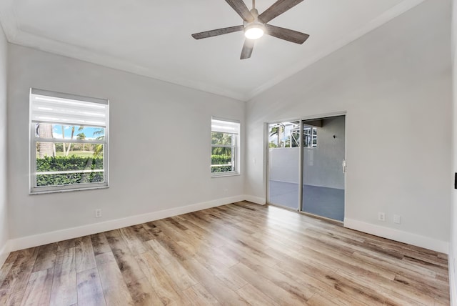
[[[211,116],[243,135],[244,102],[13,44],[9,67],[11,239],[243,194],[243,169],[211,178],[210,155]],[[30,87],[109,99],[108,189],[29,195]]]

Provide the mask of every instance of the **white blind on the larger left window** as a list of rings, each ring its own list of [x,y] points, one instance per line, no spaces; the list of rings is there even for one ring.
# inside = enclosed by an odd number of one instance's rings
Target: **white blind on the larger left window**
[[[106,127],[108,101],[31,89],[30,118],[34,123]]]

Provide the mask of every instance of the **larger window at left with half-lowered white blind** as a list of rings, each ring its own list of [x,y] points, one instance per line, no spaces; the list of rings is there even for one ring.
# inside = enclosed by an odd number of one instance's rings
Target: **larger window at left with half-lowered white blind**
[[[30,91],[30,192],[108,187],[109,102]]]

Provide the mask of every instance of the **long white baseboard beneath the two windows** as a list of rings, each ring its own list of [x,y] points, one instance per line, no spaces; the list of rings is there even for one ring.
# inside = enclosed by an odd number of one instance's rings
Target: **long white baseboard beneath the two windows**
[[[46,232],[39,235],[21,237],[9,240],[9,251],[23,250],[29,247],[37,247],[39,245],[47,245],[49,243],[58,242],[62,240],[77,238],[86,235],[92,235],[99,232],[106,232],[109,230],[116,230],[122,227],[129,227],[134,224],[141,224],[144,222],[174,217],[179,214],[186,214],[188,212],[196,212],[201,209],[230,204],[233,202],[243,201],[245,197],[239,195],[236,197],[226,197],[223,199],[215,199],[209,202],[202,202],[191,204],[184,207],[176,207],[171,209],[161,210],[159,212],[150,212],[147,214],[138,214],[136,216],[126,217],[122,219],[114,219],[106,222],[88,224],[81,227],[71,227],[65,230],[58,230],[55,232]]]

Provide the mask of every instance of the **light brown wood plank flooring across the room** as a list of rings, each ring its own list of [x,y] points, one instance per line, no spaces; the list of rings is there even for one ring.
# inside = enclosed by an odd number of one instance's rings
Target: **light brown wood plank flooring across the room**
[[[447,255],[238,202],[12,252],[0,305],[449,305]]]

